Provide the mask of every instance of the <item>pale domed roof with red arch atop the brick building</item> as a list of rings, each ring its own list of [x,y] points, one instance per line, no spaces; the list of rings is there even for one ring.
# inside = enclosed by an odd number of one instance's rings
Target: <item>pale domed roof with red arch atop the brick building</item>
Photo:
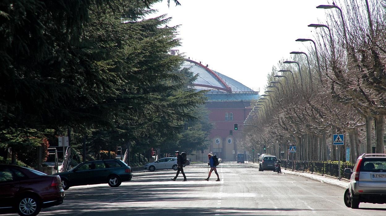
[[[196,61],[186,59],[184,68],[190,68],[194,75],[198,74],[194,86],[197,90],[210,90],[208,101],[250,101],[260,98],[259,92],[246,87],[242,83],[217,71],[210,70]]]

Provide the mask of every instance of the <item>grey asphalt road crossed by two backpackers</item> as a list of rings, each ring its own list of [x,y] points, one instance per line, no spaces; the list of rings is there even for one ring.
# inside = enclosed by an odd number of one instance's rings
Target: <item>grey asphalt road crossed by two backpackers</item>
[[[386,205],[344,205],[344,189],[272,171],[254,164],[222,163],[205,181],[206,164],[185,167],[173,182],[174,170],[142,171],[112,188],[107,184],[70,187],[63,204],[39,215],[385,215]]]

